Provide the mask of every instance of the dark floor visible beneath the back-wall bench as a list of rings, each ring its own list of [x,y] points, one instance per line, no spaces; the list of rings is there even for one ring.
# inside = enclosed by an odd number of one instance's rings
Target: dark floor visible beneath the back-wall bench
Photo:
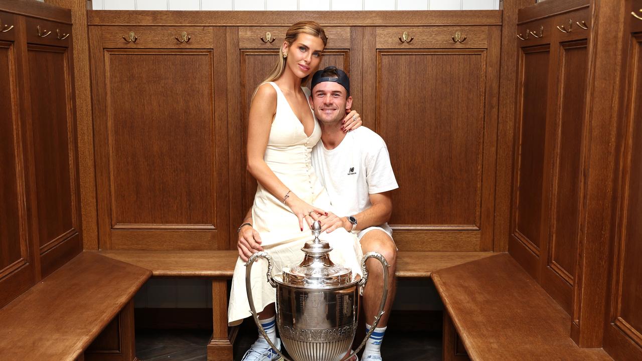
[[[234,343],[234,361],[241,360],[256,340],[256,326],[245,322]],[[206,361],[207,330],[136,330],[136,353],[141,361]],[[441,360],[440,333],[388,329],[381,348],[386,361]]]

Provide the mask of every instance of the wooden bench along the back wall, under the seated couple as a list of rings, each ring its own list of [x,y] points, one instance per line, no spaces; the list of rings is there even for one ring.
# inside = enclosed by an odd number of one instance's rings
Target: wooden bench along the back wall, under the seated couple
[[[100,251],[115,260],[152,271],[155,277],[204,277],[212,279],[213,335],[207,360],[232,360],[238,328],[227,327],[227,281],[232,279],[237,251]],[[401,278],[427,278],[435,270],[491,256],[492,252],[400,251],[395,274]]]

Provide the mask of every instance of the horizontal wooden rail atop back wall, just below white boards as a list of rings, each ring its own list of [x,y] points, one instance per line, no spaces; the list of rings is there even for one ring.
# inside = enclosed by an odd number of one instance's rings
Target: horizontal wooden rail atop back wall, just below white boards
[[[13,0],[16,1],[16,0]],[[90,25],[290,26],[301,19],[336,26],[499,25],[501,10],[444,11],[110,11],[87,12]]]

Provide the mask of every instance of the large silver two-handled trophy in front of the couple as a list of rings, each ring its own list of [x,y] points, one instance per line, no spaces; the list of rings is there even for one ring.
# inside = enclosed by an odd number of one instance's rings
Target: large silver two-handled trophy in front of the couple
[[[303,261],[299,265],[284,267],[282,274],[272,276],[272,257],[267,252],[257,252],[245,263],[245,286],[254,322],[272,349],[288,361],[291,360],[284,357],[266,335],[254,307],[250,274],[252,264],[258,258],[268,261],[268,282],[277,293],[277,328],[294,361],[343,361],[356,355],[379,324],[388,297],[389,266],[381,254],[365,254],[361,259],[363,277],[352,279],[351,269],[335,265],[330,260],[328,254],[332,247],[319,240],[320,233],[320,223],[314,222],[312,234],[315,239],[301,249],[305,253]],[[369,258],[376,258],[383,266],[383,295],[370,331],[360,346],[348,355],[357,328],[359,290],[368,281],[365,262]]]

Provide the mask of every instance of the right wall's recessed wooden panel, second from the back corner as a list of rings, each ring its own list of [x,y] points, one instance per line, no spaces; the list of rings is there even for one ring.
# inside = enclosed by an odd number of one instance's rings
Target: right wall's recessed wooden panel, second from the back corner
[[[587,42],[561,43],[559,85],[555,107],[555,141],[551,184],[548,247],[542,267],[542,286],[571,313],[576,276],[582,166],[584,155],[584,99],[586,98]],[[551,142],[553,143],[553,142]]]

